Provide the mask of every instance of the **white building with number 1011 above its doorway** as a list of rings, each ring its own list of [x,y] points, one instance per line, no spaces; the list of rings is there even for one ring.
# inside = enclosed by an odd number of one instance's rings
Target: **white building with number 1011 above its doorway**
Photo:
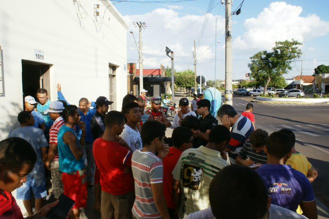
[[[121,109],[127,94],[128,24],[110,1],[0,1],[0,140],[17,127],[23,92],[56,83],[70,104],[105,96]]]

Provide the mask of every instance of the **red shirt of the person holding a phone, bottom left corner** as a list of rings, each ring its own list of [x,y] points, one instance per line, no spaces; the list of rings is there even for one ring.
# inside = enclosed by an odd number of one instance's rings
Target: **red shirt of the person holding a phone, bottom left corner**
[[[22,212],[10,192],[0,193],[0,218],[1,219],[23,219]]]

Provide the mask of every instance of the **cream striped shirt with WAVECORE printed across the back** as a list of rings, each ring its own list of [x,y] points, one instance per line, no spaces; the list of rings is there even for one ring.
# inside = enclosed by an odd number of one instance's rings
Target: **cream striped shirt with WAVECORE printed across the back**
[[[210,207],[210,182],[228,165],[219,151],[204,146],[183,151],[172,171],[173,179],[180,181],[182,193],[179,218]]]

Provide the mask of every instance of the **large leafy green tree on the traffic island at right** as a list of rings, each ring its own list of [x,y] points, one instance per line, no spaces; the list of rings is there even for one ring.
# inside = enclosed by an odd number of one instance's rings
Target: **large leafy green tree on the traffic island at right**
[[[278,41],[272,52],[261,51],[250,57],[251,63],[248,67],[251,71],[251,77],[264,85],[264,95],[269,83],[282,80],[282,75],[287,74],[292,69],[291,63],[302,55],[299,45],[303,45],[297,40]]]

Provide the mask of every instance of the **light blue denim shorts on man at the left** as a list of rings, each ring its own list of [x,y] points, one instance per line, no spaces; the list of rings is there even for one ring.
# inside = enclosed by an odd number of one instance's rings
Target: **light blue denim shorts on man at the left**
[[[29,200],[32,192],[35,199],[47,196],[46,178],[43,173],[27,174],[26,182],[16,190],[16,199]]]

